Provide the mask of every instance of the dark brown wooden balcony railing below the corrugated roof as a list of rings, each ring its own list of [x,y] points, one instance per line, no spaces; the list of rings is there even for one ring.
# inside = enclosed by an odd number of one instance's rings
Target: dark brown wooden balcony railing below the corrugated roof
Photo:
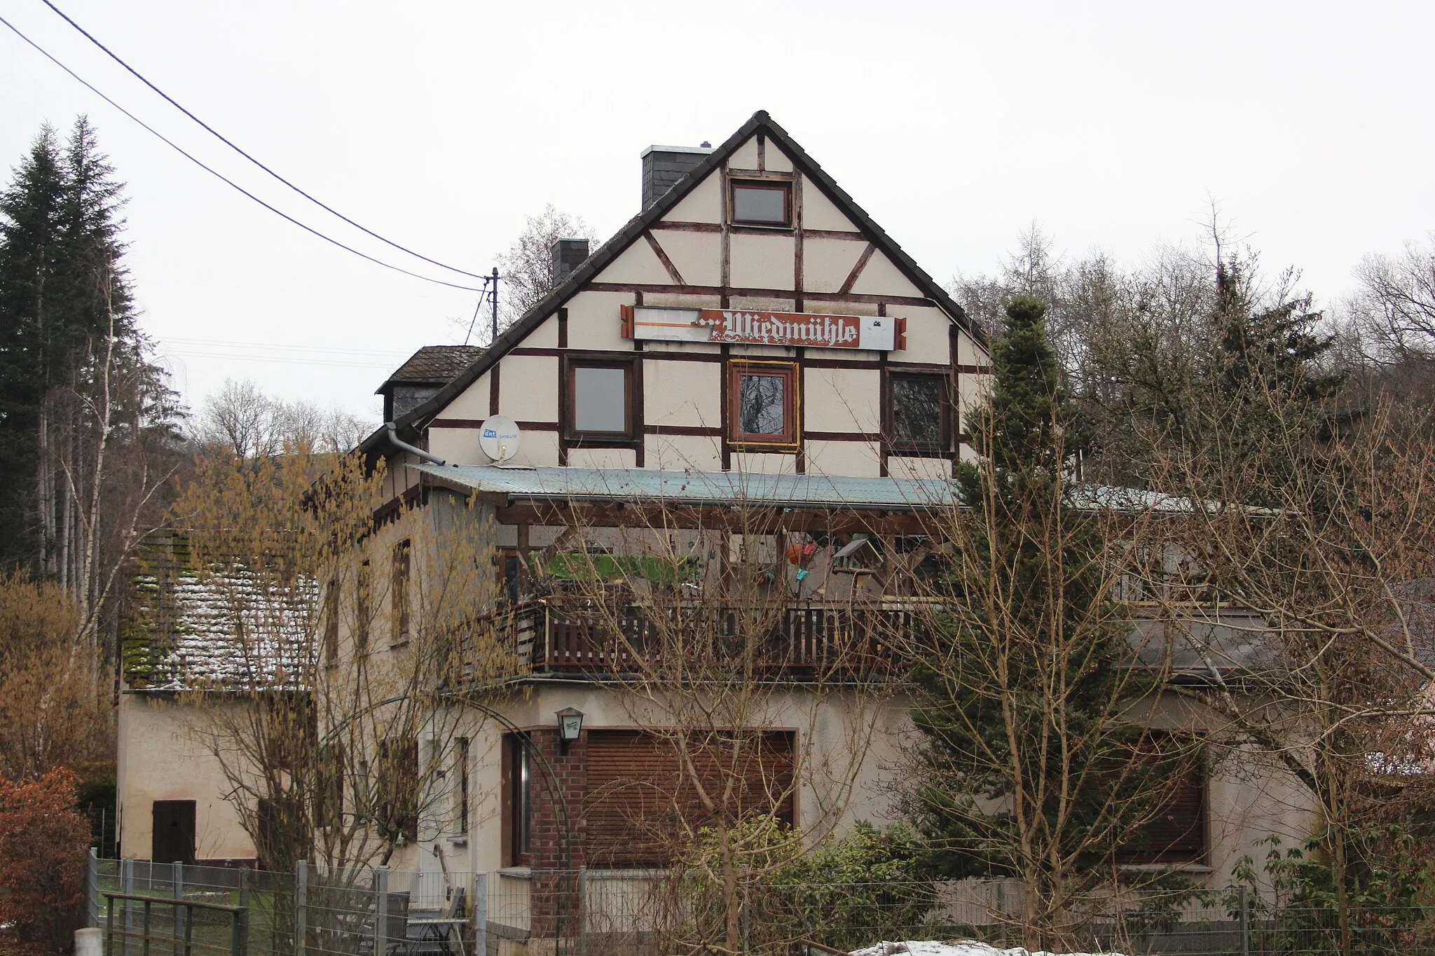
[[[461,679],[494,677],[478,664],[494,648],[509,675],[598,681],[687,671],[716,679],[870,679],[898,668],[898,648],[924,629],[930,611],[918,599],[598,605],[545,598],[478,621],[461,641]]]

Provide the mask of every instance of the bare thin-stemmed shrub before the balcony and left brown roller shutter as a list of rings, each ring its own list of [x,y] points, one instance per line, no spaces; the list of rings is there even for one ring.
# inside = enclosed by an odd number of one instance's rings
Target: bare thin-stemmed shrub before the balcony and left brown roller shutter
[[[666,767],[590,794],[621,806],[631,834],[590,844],[590,864],[613,851],[672,864],[666,914],[695,952],[740,952],[746,887],[847,817],[875,725],[891,718],[890,631],[905,619],[855,575],[799,576],[832,529],[794,530],[742,486],[723,509],[633,502],[627,526],[574,525],[532,562]],[[693,917],[695,884],[719,900],[710,922]]]

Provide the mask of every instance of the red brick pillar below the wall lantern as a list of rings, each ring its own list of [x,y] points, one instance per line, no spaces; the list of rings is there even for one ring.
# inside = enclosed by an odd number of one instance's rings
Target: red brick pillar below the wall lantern
[[[568,827],[571,833],[571,856],[564,860],[563,853],[563,818],[557,816],[550,787],[550,780],[541,760],[534,760],[534,800],[532,800],[532,833],[530,838],[531,851],[528,866],[534,871],[532,883],[532,932],[540,936],[540,930],[551,935],[558,923],[565,927],[577,926],[578,893],[577,880],[571,870],[587,866],[584,849],[584,820],[583,801],[588,793],[588,761],[587,761],[587,731],[577,742],[568,747],[568,752],[560,752],[558,731],[532,731],[530,735],[535,751],[547,758],[552,767],[560,795],[568,807]],[[567,863],[570,871],[561,871]],[[577,935],[575,930],[564,929],[564,936]]]

